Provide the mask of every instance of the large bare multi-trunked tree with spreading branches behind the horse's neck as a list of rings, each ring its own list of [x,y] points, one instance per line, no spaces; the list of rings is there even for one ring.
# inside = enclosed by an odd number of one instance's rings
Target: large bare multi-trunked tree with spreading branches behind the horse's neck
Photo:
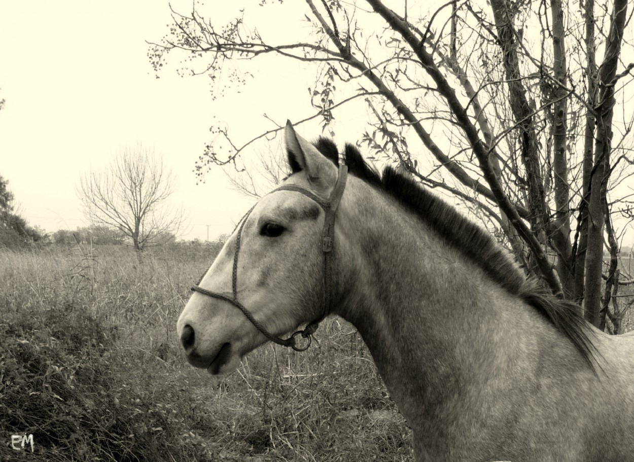
[[[299,122],[318,118],[327,129],[342,106],[365,103],[372,119],[361,142],[374,157],[481,210],[527,273],[583,302],[598,327],[617,331],[618,322],[606,324],[621,312],[613,288],[631,276],[619,271],[618,256],[619,233],[630,224],[618,229],[615,219],[633,210],[631,191],[619,188],[634,165],[626,0],[587,0],[582,8],[454,0],[418,16],[407,1],[391,3],[398,11],[381,0],[305,3],[297,21],[312,25],[312,35],[281,43],[266,38],[266,24],[247,23],[248,10],[225,25],[201,4],[172,10],[174,23],[150,46],[150,62],[158,72],[183,53],[191,74],[214,82],[227,82],[216,77],[230,61],[257,65],[276,55],[313,63],[314,112]],[[235,163],[281,125],[239,143],[212,127],[215,141],[198,174]],[[414,140],[422,153],[410,149]]]

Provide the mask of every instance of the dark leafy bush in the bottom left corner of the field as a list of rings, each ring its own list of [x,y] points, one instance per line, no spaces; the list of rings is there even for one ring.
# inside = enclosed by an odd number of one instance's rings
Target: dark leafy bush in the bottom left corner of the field
[[[116,326],[76,305],[18,312],[0,322],[0,430],[32,433],[29,459],[205,459],[184,417],[191,399],[171,406],[174,383],[131,375],[147,359],[120,349]]]

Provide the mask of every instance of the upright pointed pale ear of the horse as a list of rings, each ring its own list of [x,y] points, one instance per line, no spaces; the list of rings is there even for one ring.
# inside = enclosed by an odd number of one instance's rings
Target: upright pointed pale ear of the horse
[[[284,129],[284,141],[288,154],[288,166],[293,173],[304,170],[306,177],[315,186],[334,186],[337,181],[337,167],[313,144],[295,133],[290,120]]]

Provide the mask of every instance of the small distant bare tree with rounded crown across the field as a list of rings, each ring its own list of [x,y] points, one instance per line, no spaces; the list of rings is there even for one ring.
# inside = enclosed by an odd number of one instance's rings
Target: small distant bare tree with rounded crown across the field
[[[139,145],[123,150],[108,169],[85,174],[77,195],[93,226],[119,229],[141,251],[178,233],[183,212],[167,205],[173,189],[171,171],[165,171],[152,150]]]

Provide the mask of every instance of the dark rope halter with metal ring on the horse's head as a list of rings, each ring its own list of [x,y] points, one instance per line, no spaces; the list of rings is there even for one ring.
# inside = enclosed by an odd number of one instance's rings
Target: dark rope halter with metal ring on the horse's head
[[[339,202],[341,200],[341,196],[344,194],[344,189],[346,188],[346,177],[348,173],[348,167],[344,162],[339,163],[339,175],[337,176],[337,183],[335,184],[335,189],[333,189],[330,194],[330,198],[328,201],[325,201],[315,195],[313,192],[309,191],[306,188],[302,188],[301,186],[297,186],[296,184],[283,184],[279,188],[273,189],[271,193],[275,193],[275,191],[294,191],[296,193],[301,193],[307,198],[313,200],[318,203],[320,207],[325,212],[325,219],[323,223],[323,230],[321,231],[321,250],[323,251],[323,298],[322,302],[322,311],[321,317],[311,321],[307,324],[304,330],[298,330],[293,335],[288,338],[280,338],[275,337],[275,335],[271,334],[268,330],[262,326],[259,321],[247,310],[247,308],[238,302],[237,295],[237,286],[238,286],[238,255],[240,252],[240,238],[242,236],[242,228],[244,227],[245,222],[247,222],[247,218],[250,213],[253,211],[254,207],[252,207],[249,212],[242,219],[242,224],[240,224],[240,229],[238,229],[238,235],[236,236],[236,251],[233,255],[233,274],[231,277],[231,290],[233,292],[233,298],[227,297],[222,293],[211,292],[210,290],[204,289],[198,285],[191,286],[191,290],[195,292],[202,293],[209,297],[218,298],[219,300],[224,300],[225,302],[229,302],[234,305],[242,313],[251,321],[251,323],[256,326],[257,330],[259,330],[264,337],[271,340],[271,342],[275,342],[278,345],[282,345],[283,347],[291,347],[295,351],[304,351],[311,345],[311,338],[314,332],[319,327],[319,323],[323,318],[327,316],[327,314],[332,309],[333,303],[333,294],[332,294],[332,254],[330,253],[335,242],[335,214],[337,213],[337,207],[339,207]],[[270,194],[270,193],[269,193]],[[307,339],[307,343],[304,347],[298,347],[295,337],[297,335],[301,335],[303,338]]]

